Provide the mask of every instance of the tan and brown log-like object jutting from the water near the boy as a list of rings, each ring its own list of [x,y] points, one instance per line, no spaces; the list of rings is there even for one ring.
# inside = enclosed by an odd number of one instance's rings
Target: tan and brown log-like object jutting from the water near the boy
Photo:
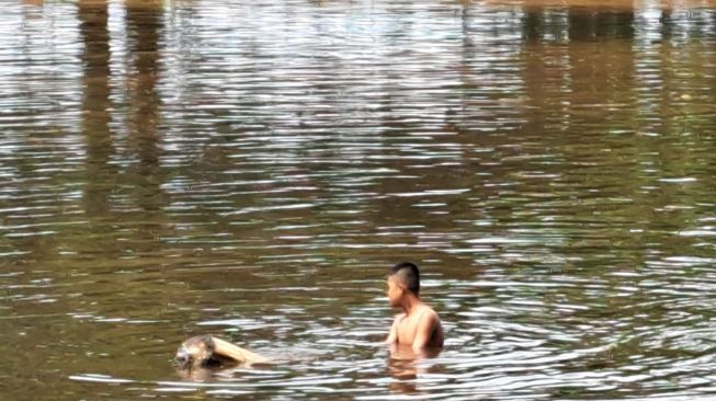
[[[174,363],[182,369],[265,364],[269,359],[211,334],[196,335],[177,350]]]

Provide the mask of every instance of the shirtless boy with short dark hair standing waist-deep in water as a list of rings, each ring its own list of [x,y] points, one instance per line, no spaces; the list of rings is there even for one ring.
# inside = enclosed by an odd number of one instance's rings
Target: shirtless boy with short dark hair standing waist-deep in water
[[[387,285],[390,306],[402,309],[405,313],[396,316],[386,343],[407,345],[416,353],[442,347],[445,334],[440,318],[420,299],[418,266],[410,262],[393,266]]]

